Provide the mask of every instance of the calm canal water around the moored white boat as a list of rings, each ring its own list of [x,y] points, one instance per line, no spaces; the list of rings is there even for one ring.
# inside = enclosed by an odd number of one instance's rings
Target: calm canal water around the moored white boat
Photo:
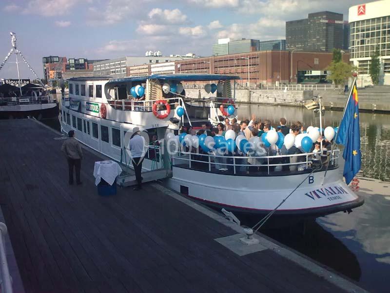
[[[319,118],[311,110],[288,106],[240,105],[240,119],[269,119],[274,126],[284,117],[288,125],[300,121],[305,128],[318,126]],[[326,111],[325,126],[337,126],[342,112]],[[59,129],[59,121],[45,120]],[[389,292],[390,276],[390,115],[360,113],[362,150],[361,176],[389,182],[385,195],[365,196],[365,204],[351,214],[339,212],[322,217],[306,226],[265,230],[280,243],[311,257],[331,270],[356,281],[370,292]],[[342,172],[342,168],[340,168]]]

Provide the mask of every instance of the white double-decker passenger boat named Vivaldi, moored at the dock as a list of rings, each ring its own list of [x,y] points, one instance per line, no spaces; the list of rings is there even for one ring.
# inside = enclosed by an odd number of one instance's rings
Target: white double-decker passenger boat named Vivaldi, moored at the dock
[[[70,79],[69,97],[61,106],[61,127],[65,132],[75,130],[80,142],[127,166],[131,164],[126,147],[134,127],[145,130],[142,135],[147,141],[156,134],[160,143],[147,146],[143,170],[170,170],[170,188],[219,209],[267,214],[293,191],[273,215],[289,222],[292,218],[350,211],[364,203],[340,175],[338,149],[327,151],[316,162],[312,153],[254,157],[172,151],[170,142],[163,138],[167,133],[179,133],[186,113],[179,117],[176,109],[186,110],[186,106],[183,95],[164,93],[164,84],[215,81],[223,84],[226,93],[231,91],[229,81],[234,79],[238,77],[196,74]],[[145,87],[142,100],[130,98],[131,88],[136,86]],[[229,95],[234,100],[231,92]],[[210,109],[209,118],[223,117],[213,102]]]

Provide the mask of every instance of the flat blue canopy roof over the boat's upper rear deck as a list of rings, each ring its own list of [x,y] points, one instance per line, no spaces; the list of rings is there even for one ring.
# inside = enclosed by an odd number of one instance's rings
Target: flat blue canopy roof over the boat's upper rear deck
[[[147,79],[170,80],[177,82],[205,82],[239,80],[239,76],[222,74],[153,74],[149,76],[135,76],[112,79],[108,83],[142,82]]]

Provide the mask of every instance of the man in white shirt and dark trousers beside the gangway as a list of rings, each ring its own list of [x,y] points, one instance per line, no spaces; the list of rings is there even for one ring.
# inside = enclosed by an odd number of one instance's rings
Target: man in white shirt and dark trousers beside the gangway
[[[137,187],[133,190],[142,190],[142,161],[145,156],[145,139],[140,135],[138,127],[133,129],[133,135],[129,141],[129,150],[131,153],[131,162],[133,163],[134,170],[136,172]]]

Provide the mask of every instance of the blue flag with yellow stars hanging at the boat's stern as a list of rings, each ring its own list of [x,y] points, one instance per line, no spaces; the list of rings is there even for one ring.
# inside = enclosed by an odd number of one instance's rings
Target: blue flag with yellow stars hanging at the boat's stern
[[[343,158],[345,159],[345,166],[343,175],[347,184],[351,182],[360,170],[361,163],[358,101],[355,79],[336,139],[337,144],[344,145]]]

